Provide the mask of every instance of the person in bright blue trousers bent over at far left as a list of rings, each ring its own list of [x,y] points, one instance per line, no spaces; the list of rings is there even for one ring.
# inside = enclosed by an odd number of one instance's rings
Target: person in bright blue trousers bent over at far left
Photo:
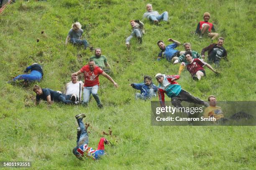
[[[30,70],[31,72],[28,73]],[[24,72],[28,74],[18,75],[12,81],[14,82],[17,80],[24,80],[28,82],[40,81],[44,75],[43,68],[41,67],[41,65],[37,63],[33,63],[32,65],[28,66],[26,70],[24,70]],[[9,82],[12,82],[12,81],[9,81]]]

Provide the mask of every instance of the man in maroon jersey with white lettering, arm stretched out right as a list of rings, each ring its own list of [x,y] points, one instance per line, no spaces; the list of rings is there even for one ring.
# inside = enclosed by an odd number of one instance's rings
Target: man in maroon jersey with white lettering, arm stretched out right
[[[203,66],[207,66],[212,70],[215,74],[219,74],[217,71],[215,71],[212,66],[203,60],[199,58],[192,58],[192,53],[190,51],[185,52],[185,58],[188,62],[187,70],[190,72],[190,74],[193,77],[193,80],[200,80],[201,77],[205,76],[205,70]]]

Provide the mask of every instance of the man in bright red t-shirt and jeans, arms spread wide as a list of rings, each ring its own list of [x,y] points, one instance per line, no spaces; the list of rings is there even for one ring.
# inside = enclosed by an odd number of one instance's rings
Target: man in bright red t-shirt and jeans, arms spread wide
[[[100,102],[99,95],[97,94],[99,89],[99,75],[103,75],[108,80],[113,82],[115,87],[118,87],[118,84],[100,67],[95,65],[94,60],[90,60],[87,65],[84,65],[79,71],[74,72],[72,76],[77,76],[81,73],[84,73],[84,95],[83,95],[83,104],[88,105],[90,95],[94,97],[97,102],[98,107],[102,108],[103,105]]]

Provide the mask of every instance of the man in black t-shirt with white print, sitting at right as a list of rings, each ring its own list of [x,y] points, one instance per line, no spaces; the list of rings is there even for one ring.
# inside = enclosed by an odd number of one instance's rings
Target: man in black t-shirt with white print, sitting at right
[[[228,60],[227,59],[228,54],[225,48],[223,47],[223,43],[224,43],[224,38],[219,37],[217,44],[213,43],[208,47],[203,48],[201,52],[202,58],[205,57],[205,51],[208,51],[208,60],[213,61],[214,64],[217,67],[219,67],[221,58],[224,58],[224,60],[226,61]]]

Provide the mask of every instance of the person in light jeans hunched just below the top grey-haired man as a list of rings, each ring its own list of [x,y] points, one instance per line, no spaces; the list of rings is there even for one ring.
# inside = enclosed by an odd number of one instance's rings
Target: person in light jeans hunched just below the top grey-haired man
[[[132,33],[125,40],[125,45],[128,49],[130,49],[130,41],[133,37],[137,37],[138,42],[142,43],[142,35],[145,34],[144,24],[140,20],[131,20]]]

